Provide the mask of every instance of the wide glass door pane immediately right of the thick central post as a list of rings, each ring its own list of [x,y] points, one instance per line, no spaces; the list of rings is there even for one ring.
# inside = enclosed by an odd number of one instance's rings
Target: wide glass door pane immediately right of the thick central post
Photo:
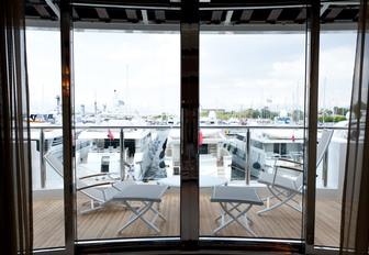
[[[301,240],[305,9],[202,16],[200,233]],[[277,188],[275,178],[286,182]]]

